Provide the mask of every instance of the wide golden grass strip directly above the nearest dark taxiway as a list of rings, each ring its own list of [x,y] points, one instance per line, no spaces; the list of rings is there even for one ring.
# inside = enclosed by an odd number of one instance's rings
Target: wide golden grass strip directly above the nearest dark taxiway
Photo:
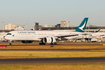
[[[105,57],[105,51],[0,51],[0,59]]]

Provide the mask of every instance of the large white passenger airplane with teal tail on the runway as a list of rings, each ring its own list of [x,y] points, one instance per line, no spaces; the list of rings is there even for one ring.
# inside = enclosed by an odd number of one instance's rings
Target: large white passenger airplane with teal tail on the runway
[[[57,38],[78,36],[83,34],[87,25],[88,18],[84,18],[81,24],[75,31],[50,31],[50,30],[35,30],[35,31],[11,31],[5,35],[5,39],[12,45],[12,41],[21,41],[22,43],[32,43],[33,41],[40,41],[39,45],[50,43],[54,45]]]

